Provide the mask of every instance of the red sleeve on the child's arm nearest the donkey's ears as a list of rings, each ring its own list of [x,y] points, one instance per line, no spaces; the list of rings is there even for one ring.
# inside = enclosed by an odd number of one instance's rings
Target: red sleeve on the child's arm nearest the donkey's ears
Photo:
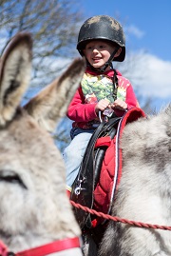
[[[80,87],[67,108],[66,115],[75,122],[88,122],[97,117],[95,106],[96,103],[85,104],[85,98]]]

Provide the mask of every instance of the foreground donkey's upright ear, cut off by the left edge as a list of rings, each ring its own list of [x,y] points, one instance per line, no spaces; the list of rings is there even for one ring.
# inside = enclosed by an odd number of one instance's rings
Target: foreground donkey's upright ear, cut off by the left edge
[[[32,40],[29,33],[16,34],[1,57],[0,126],[10,121],[28,89]]]

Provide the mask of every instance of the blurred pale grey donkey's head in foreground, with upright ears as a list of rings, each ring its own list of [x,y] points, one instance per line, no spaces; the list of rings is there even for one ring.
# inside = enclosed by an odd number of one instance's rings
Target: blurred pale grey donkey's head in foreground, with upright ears
[[[0,63],[0,240],[14,253],[49,244],[43,255],[81,256],[81,230],[66,196],[65,164],[49,132],[66,114],[85,63],[75,59],[21,107],[31,52],[30,35],[18,33]],[[63,251],[55,241],[62,243]],[[58,252],[50,250],[50,243]]]

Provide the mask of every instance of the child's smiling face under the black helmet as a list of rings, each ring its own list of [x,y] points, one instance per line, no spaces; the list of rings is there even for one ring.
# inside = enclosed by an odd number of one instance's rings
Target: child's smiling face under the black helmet
[[[84,53],[89,64],[95,69],[99,69],[104,67],[114,49],[112,44],[104,40],[92,40],[85,46]],[[117,51],[115,56],[118,56],[120,52],[121,49]]]

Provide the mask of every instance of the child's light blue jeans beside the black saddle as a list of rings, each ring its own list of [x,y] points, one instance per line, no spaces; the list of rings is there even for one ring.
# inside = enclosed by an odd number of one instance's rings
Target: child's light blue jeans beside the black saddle
[[[72,128],[70,131],[71,142],[63,153],[66,164],[66,185],[68,187],[72,186],[77,177],[86,146],[93,132],[94,129],[82,128]]]

